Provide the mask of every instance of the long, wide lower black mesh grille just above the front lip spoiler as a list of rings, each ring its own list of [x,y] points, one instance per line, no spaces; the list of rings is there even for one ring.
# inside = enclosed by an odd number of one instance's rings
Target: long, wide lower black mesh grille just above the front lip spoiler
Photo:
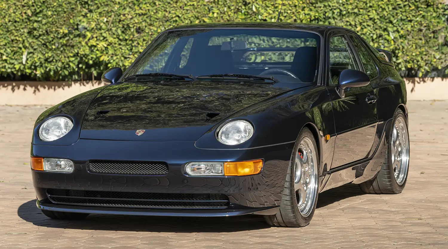
[[[226,208],[225,194],[165,194],[47,189],[53,203],[131,208]]]

